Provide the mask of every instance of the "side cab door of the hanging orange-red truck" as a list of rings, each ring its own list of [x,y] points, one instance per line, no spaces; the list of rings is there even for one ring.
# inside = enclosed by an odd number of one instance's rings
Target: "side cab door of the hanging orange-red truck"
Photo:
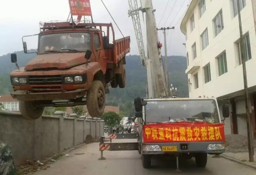
[[[103,49],[102,40],[100,40],[100,36],[98,33],[93,34],[93,52],[96,57],[96,62],[100,63],[101,69],[103,73],[106,73],[107,63],[106,63],[106,56]]]

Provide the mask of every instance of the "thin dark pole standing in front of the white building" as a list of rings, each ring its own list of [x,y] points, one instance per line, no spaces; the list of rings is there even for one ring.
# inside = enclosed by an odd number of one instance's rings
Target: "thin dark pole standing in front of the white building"
[[[252,144],[252,125],[251,125],[250,108],[249,108],[246,65],[245,65],[245,58],[244,58],[244,56],[245,56],[244,38],[243,38],[243,31],[242,31],[242,22],[241,22],[239,0],[236,0],[236,5],[237,5],[239,32],[240,32],[240,41],[239,42],[240,42],[241,61],[242,61],[243,76],[244,76],[244,97],[245,97],[245,108],[246,108],[246,123],[247,123],[249,161],[254,162],[254,157],[253,157],[254,149],[253,149],[253,144]]]

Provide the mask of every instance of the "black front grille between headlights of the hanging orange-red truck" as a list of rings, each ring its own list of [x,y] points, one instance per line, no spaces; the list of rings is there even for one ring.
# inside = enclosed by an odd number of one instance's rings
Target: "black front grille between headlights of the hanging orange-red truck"
[[[61,76],[28,76],[30,85],[58,85],[62,84]]]

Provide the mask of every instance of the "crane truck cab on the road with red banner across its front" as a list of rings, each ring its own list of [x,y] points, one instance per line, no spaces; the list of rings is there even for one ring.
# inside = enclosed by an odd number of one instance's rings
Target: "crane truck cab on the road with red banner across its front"
[[[136,98],[134,106],[144,168],[150,168],[151,158],[159,156],[177,162],[178,157],[195,157],[197,167],[204,168],[207,154],[224,153],[224,124],[216,98]],[[223,117],[229,117],[228,105],[221,109]]]

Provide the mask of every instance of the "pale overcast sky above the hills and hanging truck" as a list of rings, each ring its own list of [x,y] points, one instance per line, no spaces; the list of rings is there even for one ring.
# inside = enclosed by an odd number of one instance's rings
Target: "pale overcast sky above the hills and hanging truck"
[[[138,55],[138,46],[132,18],[128,17],[128,0],[103,0],[103,2],[124,36],[130,36],[130,54]],[[186,56],[186,48],[182,45],[182,43],[185,43],[185,36],[180,31],[180,22],[189,2],[190,0],[153,0],[153,6],[154,9],[156,9],[155,16],[157,27],[175,27],[174,30],[166,32],[168,55]],[[11,9],[8,8],[8,6],[10,6],[9,1],[2,1],[0,6],[0,56],[23,50],[22,36],[38,34],[40,32],[40,21],[65,21],[70,12],[68,0],[12,0],[11,3]],[[116,39],[122,38],[122,34],[115,26],[101,0],[90,0],[90,3],[94,22],[112,22]],[[140,6],[139,0],[138,5]],[[142,15],[140,19],[142,33],[144,37],[146,37]],[[159,31],[158,36],[164,46],[164,34]],[[37,36],[33,36],[25,40],[28,41],[28,49],[37,47],[37,39]],[[144,43],[146,43],[145,39]],[[162,48],[162,54],[164,54],[164,48]]]

